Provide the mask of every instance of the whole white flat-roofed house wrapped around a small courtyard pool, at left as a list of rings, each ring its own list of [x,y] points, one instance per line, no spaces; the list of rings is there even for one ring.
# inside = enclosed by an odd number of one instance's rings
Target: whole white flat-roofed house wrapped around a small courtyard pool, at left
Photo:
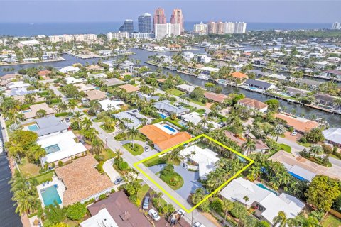
[[[87,148],[82,143],[76,143],[75,138],[72,131],[39,138],[38,145],[46,151],[46,156],[41,158],[41,165],[58,165],[58,162],[67,162],[85,153]]]

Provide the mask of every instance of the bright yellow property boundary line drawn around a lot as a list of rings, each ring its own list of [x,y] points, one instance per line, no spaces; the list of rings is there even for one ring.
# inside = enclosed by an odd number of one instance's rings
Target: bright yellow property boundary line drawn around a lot
[[[226,148],[227,150],[232,151],[233,153],[235,153],[236,155],[239,155],[240,157],[243,157],[244,159],[246,159],[246,160],[249,161],[249,164],[246,165],[245,167],[243,167],[242,170],[239,170],[239,171],[238,171],[235,175],[233,175],[231,178],[229,178],[229,179],[227,180],[227,182],[224,182],[224,184],[220,185],[220,187],[218,187],[217,189],[215,189],[215,191],[211,192],[211,194],[207,195],[207,196],[205,197],[205,199],[202,199],[202,201],[200,201],[199,203],[197,203],[195,206],[193,206],[191,209],[188,210],[188,209],[185,208],[185,206],[183,206],[183,204],[181,204],[181,203],[180,203],[178,200],[176,200],[171,194],[169,194],[169,193],[166,191],[166,189],[163,189],[163,187],[161,187],[158,183],[156,183],[151,177],[149,177],[149,176],[146,174],[146,172],[144,172],[143,170],[141,170],[141,168],[138,167],[137,165],[139,165],[139,164],[141,164],[141,163],[143,163],[143,162],[146,162],[146,160],[150,160],[150,159],[153,158],[153,157],[156,157],[156,156],[162,155],[162,154],[164,154],[164,153],[167,153],[167,152],[170,151],[170,150],[174,150],[175,148],[178,148],[178,147],[180,147],[181,145],[184,145],[184,144],[186,144],[186,143],[190,143],[190,142],[192,142],[192,141],[194,141],[194,140],[197,140],[197,139],[199,139],[199,138],[202,138],[202,137],[207,138],[207,139],[213,141],[214,143],[217,143],[218,145],[221,145],[223,148]],[[173,201],[175,201],[175,203],[178,204],[183,210],[185,210],[186,212],[190,213],[190,212],[192,212],[195,208],[197,208],[197,206],[199,206],[199,205],[202,204],[204,201],[206,201],[207,199],[209,199],[210,196],[212,196],[213,194],[215,194],[215,193],[217,193],[218,191],[220,191],[220,189],[222,189],[226,184],[228,184],[230,181],[232,181],[232,179],[234,179],[234,178],[236,178],[238,175],[240,175],[244,170],[246,170],[246,169],[247,169],[250,165],[252,165],[253,163],[254,163],[254,160],[251,160],[251,158],[249,158],[249,157],[247,157],[247,156],[245,156],[245,155],[243,155],[243,154],[237,152],[236,150],[233,150],[232,148],[227,147],[226,145],[224,145],[224,144],[218,142],[217,140],[214,140],[214,139],[210,138],[209,136],[207,136],[207,135],[205,135],[205,134],[201,134],[201,135],[198,135],[198,136],[195,137],[195,138],[191,138],[190,140],[187,140],[187,141],[185,141],[185,142],[183,142],[183,143],[180,143],[180,144],[178,144],[178,145],[175,145],[175,146],[173,146],[172,148],[168,148],[168,149],[166,149],[166,150],[163,150],[161,153],[157,153],[157,154],[155,154],[155,155],[151,155],[151,157],[146,157],[144,160],[140,160],[139,162],[135,162],[135,163],[134,163],[134,167],[136,168],[136,170],[139,170],[139,172],[141,172],[143,175],[145,175],[151,182],[153,182],[153,184],[155,184],[156,187],[158,187],[159,189],[161,189],[161,191],[162,191],[163,193],[165,193],[169,198],[171,198]],[[174,192],[175,192],[175,191],[174,191]]]

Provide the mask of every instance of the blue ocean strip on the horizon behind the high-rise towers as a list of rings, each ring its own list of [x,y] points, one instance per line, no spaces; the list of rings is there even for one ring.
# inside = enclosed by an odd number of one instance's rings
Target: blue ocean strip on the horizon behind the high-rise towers
[[[33,36],[63,35],[82,33],[107,33],[118,31],[123,22],[89,22],[89,23],[0,23],[0,35]],[[185,21],[185,29],[193,30],[193,25],[200,21]],[[331,28],[331,23],[247,23],[247,30],[299,30]],[[135,30],[137,23],[134,23]]]

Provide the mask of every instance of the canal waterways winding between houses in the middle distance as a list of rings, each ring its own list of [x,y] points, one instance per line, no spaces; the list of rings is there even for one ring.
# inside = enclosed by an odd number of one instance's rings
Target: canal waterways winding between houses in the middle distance
[[[259,48],[264,48],[264,47],[256,47],[256,46],[246,46],[245,49],[253,49],[253,50],[259,50]],[[205,53],[204,48],[198,48],[199,50],[188,50],[188,52],[193,52],[195,54],[197,53]],[[130,58],[136,59],[136,60],[141,60],[141,64],[142,65],[146,65],[144,62],[148,61],[148,56],[150,55],[155,55],[156,52],[148,52],[146,50],[141,50],[141,49],[136,49],[133,48],[131,49],[131,52],[136,53],[135,55],[131,55]],[[175,55],[176,52],[161,52],[158,53],[161,55]],[[11,72],[4,72],[3,69],[4,68],[14,68],[13,72],[17,72],[18,70],[22,69],[22,68],[27,68],[27,67],[39,67],[41,66],[53,66],[56,68],[60,68],[60,67],[65,67],[68,65],[72,65],[75,63],[81,63],[81,64],[85,64],[86,62],[88,62],[89,64],[95,63],[98,61],[97,58],[94,59],[87,59],[87,60],[83,60],[77,57],[73,57],[70,55],[63,55],[63,58],[65,58],[65,61],[62,62],[44,62],[44,63],[38,63],[38,64],[23,64],[23,65],[13,65],[13,66],[0,66],[0,76],[4,75],[4,74],[8,74]],[[111,58],[111,59],[115,59]],[[155,67],[153,65],[147,65],[149,68],[151,68],[152,70],[156,70],[158,67]],[[12,73],[13,73],[12,72]],[[182,73],[177,73],[177,72],[173,72],[171,70],[163,70],[163,72],[169,72],[172,74],[179,74],[181,78],[185,79],[186,81],[188,81],[190,84],[194,84],[197,86],[202,86],[204,87],[204,84],[206,83],[205,81],[201,80],[201,79],[197,79],[196,77],[187,75],[187,74],[182,74]],[[325,82],[325,80],[323,79],[316,79],[319,80],[321,82]],[[243,93],[245,94],[245,96],[251,98],[251,99],[257,99],[259,101],[266,101],[267,99],[272,99],[270,96],[266,96],[265,94],[259,94],[256,92],[250,92],[244,89],[239,89],[237,87],[223,87],[220,84],[217,84],[218,86],[222,87],[222,93],[223,94],[229,94],[229,93]],[[326,121],[328,121],[328,123],[330,124],[330,126],[335,126],[335,127],[341,127],[341,116],[337,115],[337,114],[329,114],[325,111],[320,111],[318,109],[312,109],[306,106],[301,106],[299,104],[292,104],[292,103],[288,103],[288,101],[283,101],[283,100],[279,100],[281,102],[281,106],[286,106],[286,109],[288,112],[291,111],[295,111],[296,115],[299,116],[300,114],[304,114],[305,118],[309,118],[309,116],[312,116],[313,114],[315,114],[315,116],[317,116],[318,118],[324,118]]]

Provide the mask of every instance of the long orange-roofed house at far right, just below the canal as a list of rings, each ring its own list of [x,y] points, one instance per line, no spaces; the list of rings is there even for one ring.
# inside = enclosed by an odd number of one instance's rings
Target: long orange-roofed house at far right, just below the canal
[[[286,121],[286,126],[293,127],[295,131],[297,131],[298,133],[302,133],[302,134],[320,125],[316,121],[311,121],[311,120],[301,118],[301,117],[288,116],[286,114],[281,114],[281,113],[279,114],[275,113],[275,118],[280,118]]]

